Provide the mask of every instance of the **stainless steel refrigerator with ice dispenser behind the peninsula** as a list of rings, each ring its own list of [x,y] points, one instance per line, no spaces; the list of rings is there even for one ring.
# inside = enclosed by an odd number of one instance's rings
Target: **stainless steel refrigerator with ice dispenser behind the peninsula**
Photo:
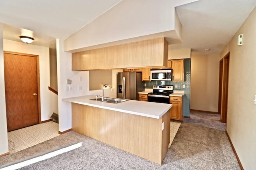
[[[138,92],[144,91],[141,72],[117,73],[117,98],[138,100]]]

